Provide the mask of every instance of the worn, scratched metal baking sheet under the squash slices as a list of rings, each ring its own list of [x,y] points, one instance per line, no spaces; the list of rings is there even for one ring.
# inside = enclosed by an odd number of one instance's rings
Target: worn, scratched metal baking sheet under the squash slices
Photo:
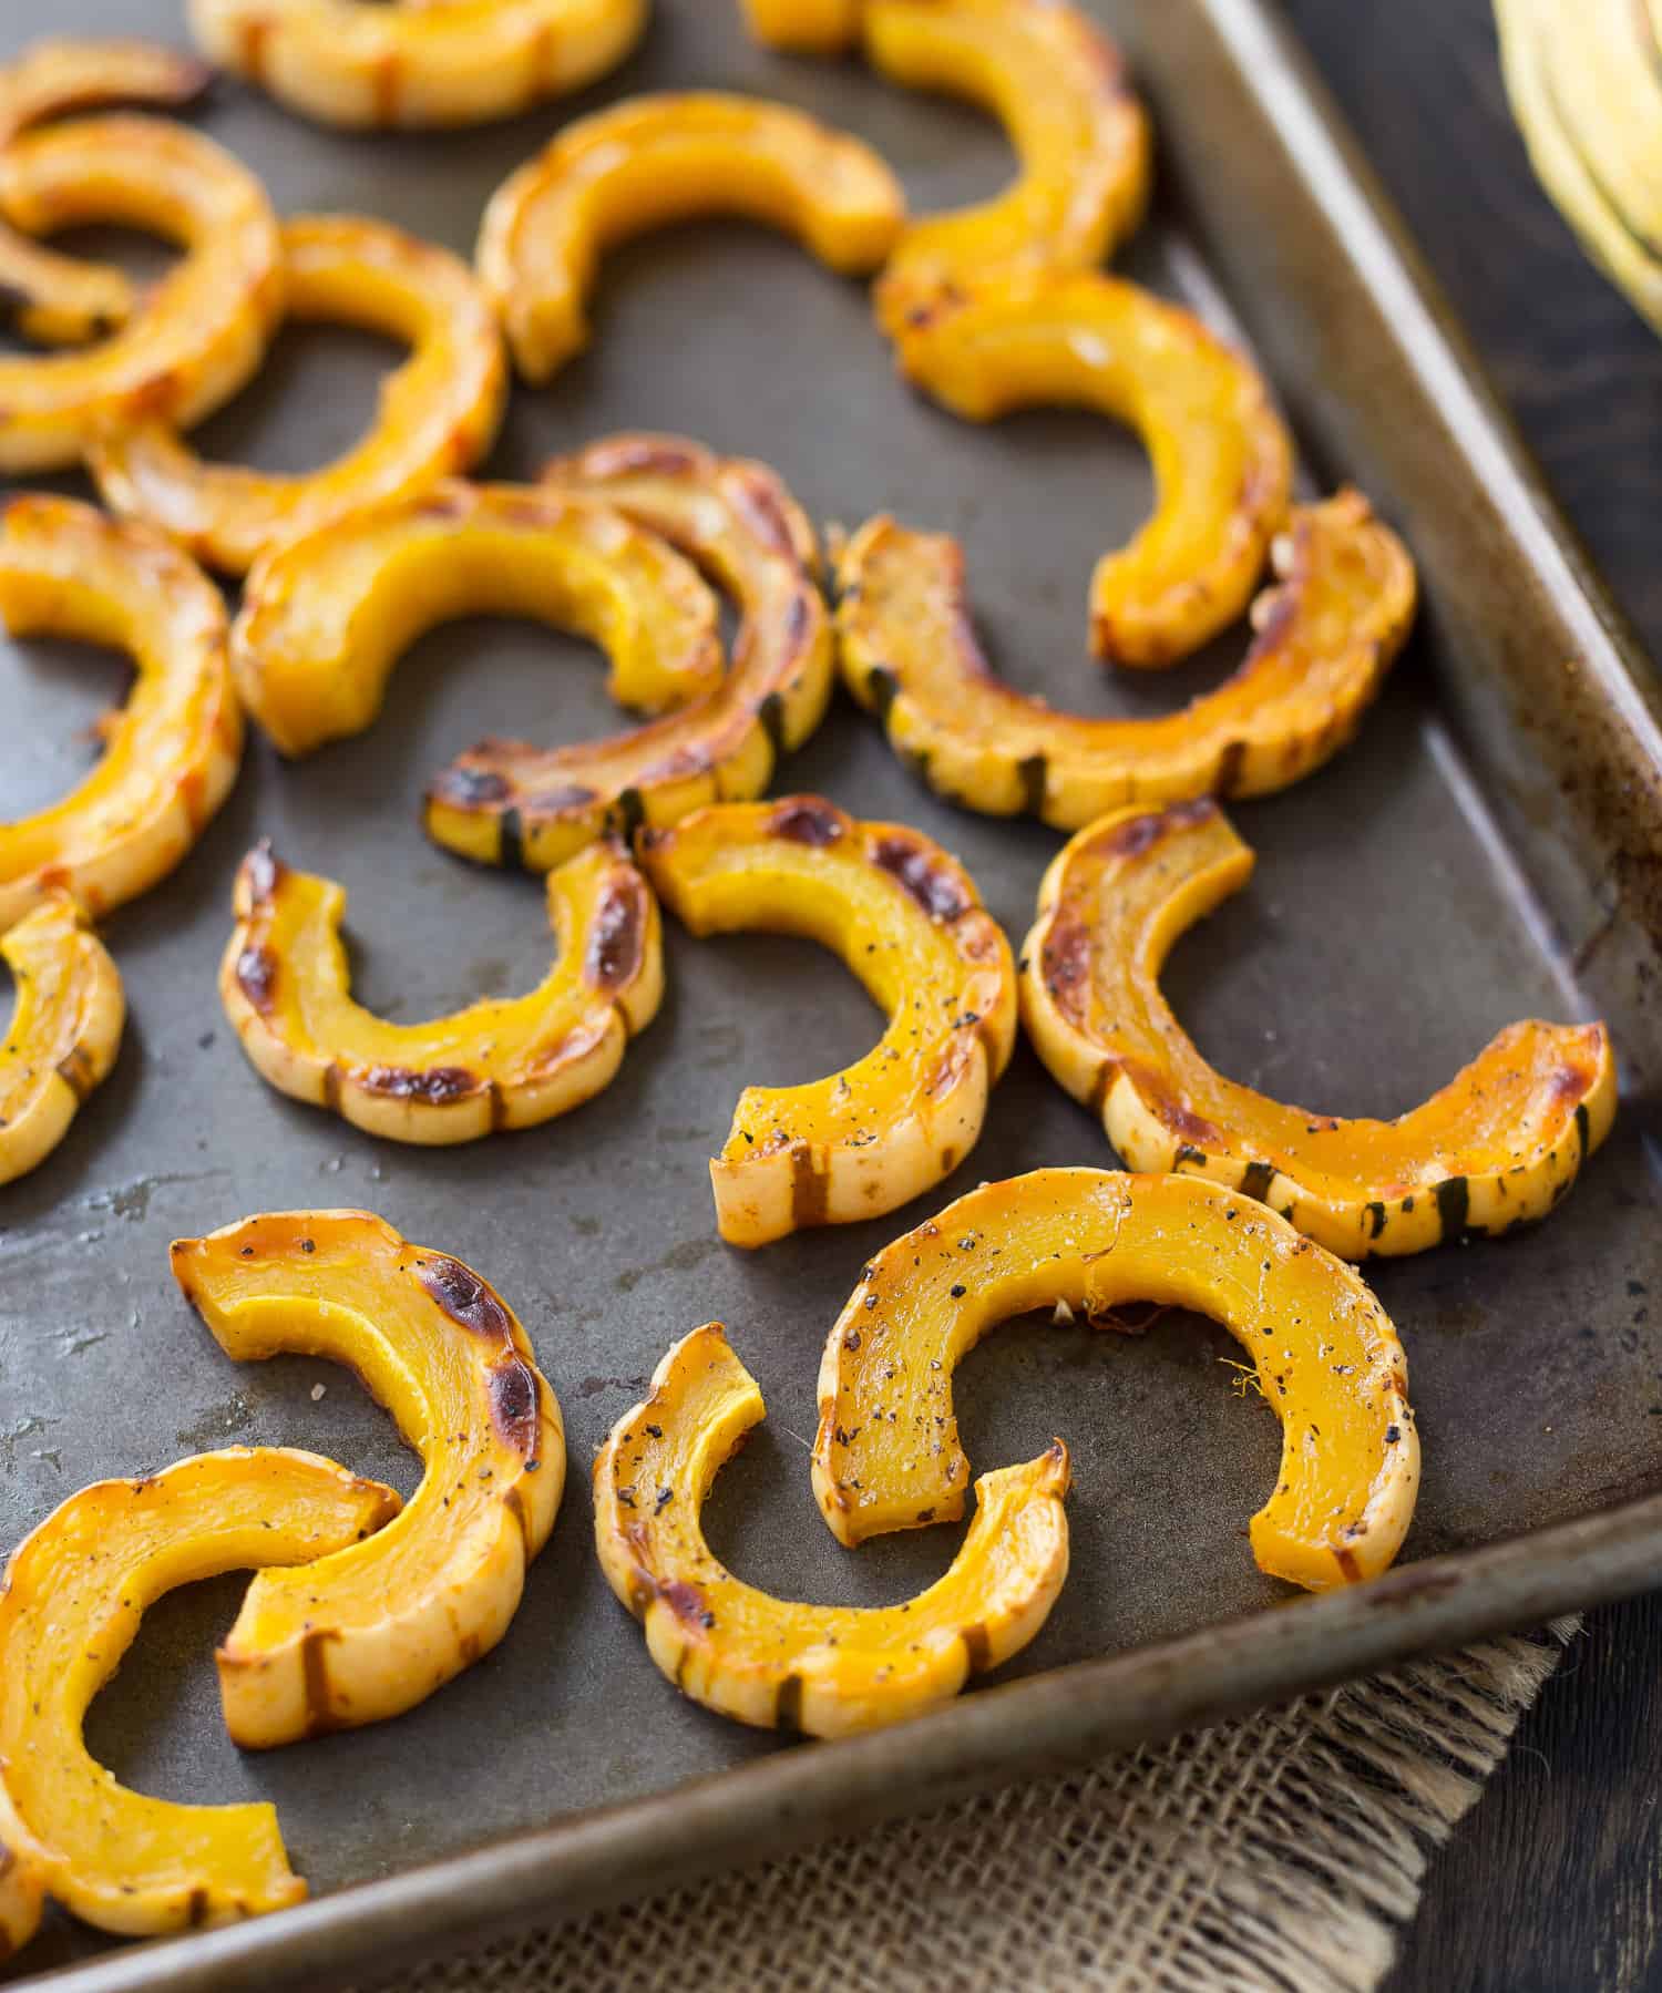
[[[6,12],[0,54],[40,20]],[[175,38],[177,12],[62,0],[52,26]],[[1236,811],[1259,869],[1178,947],[1176,1010],[1226,1072],[1339,1114],[1401,1110],[1526,1014],[1606,1014],[1624,1060],[1616,1134],[1550,1224],[1371,1274],[1409,1349],[1425,1445],[1403,1566],[1371,1592],[1267,1612],[1285,1592],[1253,1568],[1246,1521],[1277,1427],[1232,1389],[1228,1337],[1194,1319],[1144,1339],[1020,1321],[970,1357],[959,1395],[976,1469],[1028,1459],[1052,1431],[1074,1449],[1072,1576],[1004,1670],[1014,1686],[905,1734],[791,1750],[680,1700],[600,1576],[586,1487],[594,1447],[668,1343],[721,1317],[767,1395],[765,1427],[709,1507],[717,1551],[793,1596],[899,1598],[947,1565],[957,1531],[857,1555],[825,1531],[805,1439],[827,1325],[863,1260],[951,1196],[1108,1152],[1018,1050],[980,1146],[939,1192],[863,1228],[725,1250],[705,1160],[741,1084],[809,1078],[873,1038],[851,979],[759,937],[674,933],[664,1012],[614,1086],[528,1134],[420,1152],[275,1096],[215,996],[233,871],[259,835],[347,885],[357,989],[379,1010],[416,1018],[546,967],[538,885],[426,845],[416,797],[482,733],[576,739],[614,713],[582,646],[458,624],[405,660],[361,739],[295,767],[255,739],[199,849],[108,923],[132,1004],[120,1066],[48,1166],[0,1200],[0,1543],[94,1477],[231,1441],[315,1447],[411,1487],[411,1457],[349,1375],[235,1367],[173,1289],[171,1238],[291,1206],[369,1206],[500,1285],[566,1413],[564,1515],[494,1654],[399,1722],[271,1756],[239,1756],[217,1714],[209,1652],[237,1582],[151,1612],[92,1714],[92,1748],[147,1792],[275,1800],[317,1901],[102,1957],[60,1919],[14,1977],[78,1963],[86,1989],[321,1985],[1662,1580],[1656,1505],[1616,1513],[1662,1487],[1646,1152],[1662,757],[1644,664],[1255,0],[1124,0],[1112,20],[1162,134],[1160,209],[1128,267],[1257,343],[1307,486],[1361,482],[1413,542],[1429,598],[1361,741]],[[586,102],[686,84],[785,98],[867,134],[917,207],[1008,169],[982,118],[855,64],[761,54],[729,0],[662,0],[644,52]],[[343,138],[225,84],[201,120],[287,213],[361,209],[466,251],[498,179],[582,108],[448,138]],[[711,225],[632,245],[610,259],[596,317],[592,353],[552,391],[516,395],[492,472],[530,474],[622,427],[674,428],[767,458],[823,522],[893,508],[949,528],[998,666],[1058,704],[1166,708],[1238,656],[1240,636],[1154,682],[1092,666],[1090,564],[1148,504],[1136,442],[1074,413],[974,428],[923,405],[895,381],[863,291],[785,241]],[[207,427],[207,450],[319,462],[355,434],[385,359],[357,337],[285,335]],[[122,682],[118,660],[66,646],[0,652],[0,815],[80,775]],[[1058,845],[933,799],[847,704],[779,787],[931,831],[1012,937]],[[1483,1551],[1513,1537],[1523,1545]]]

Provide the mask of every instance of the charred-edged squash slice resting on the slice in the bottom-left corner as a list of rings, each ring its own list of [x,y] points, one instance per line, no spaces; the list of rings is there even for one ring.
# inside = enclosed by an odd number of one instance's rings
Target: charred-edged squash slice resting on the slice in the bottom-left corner
[[[424,1465],[365,1543],[261,1572],[219,1648],[245,1750],[399,1716],[508,1630],[566,1485],[560,1405],[496,1289],[369,1212],[271,1212],[173,1246],[173,1276],[239,1361],[359,1373]]]

